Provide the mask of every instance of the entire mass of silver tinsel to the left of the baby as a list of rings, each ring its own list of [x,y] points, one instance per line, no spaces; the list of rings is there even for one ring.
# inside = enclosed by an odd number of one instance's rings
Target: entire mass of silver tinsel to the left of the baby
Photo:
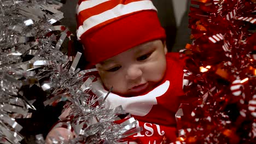
[[[34,85],[46,93],[45,106],[69,103],[65,109],[69,109],[70,119],[60,118],[61,125],[77,136],[65,140],[60,135],[51,139],[53,143],[117,143],[141,130],[135,128],[134,118],[114,123],[124,112],[121,107],[108,109],[90,92],[91,81],[83,81],[88,71],[77,69],[82,53],[72,57],[61,51],[73,37],[68,28],[59,25],[63,13],[57,9],[61,5],[50,0],[0,0],[0,143],[24,139],[15,118],[31,118],[28,111],[36,110],[35,100],[24,94],[24,88]],[[70,50],[69,46],[65,48]],[[36,139],[45,143],[42,135]]]

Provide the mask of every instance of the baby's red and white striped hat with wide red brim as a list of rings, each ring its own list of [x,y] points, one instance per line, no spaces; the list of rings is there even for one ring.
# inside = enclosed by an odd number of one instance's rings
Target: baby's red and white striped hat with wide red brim
[[[80,0],[77,37],[86,60],[96,64],[166,35],[152,1]]]

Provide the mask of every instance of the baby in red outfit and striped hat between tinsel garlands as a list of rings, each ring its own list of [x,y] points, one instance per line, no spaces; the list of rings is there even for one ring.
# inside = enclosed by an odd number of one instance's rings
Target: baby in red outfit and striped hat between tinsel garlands
[[[143,131],[128,143],[176,141],[175,113],[183,92],[184,61],[167,53],[165,31],[149,0],[80,0],[77,37],[86,61],[95,65],[112,93],[107,102],[121,105]]]

